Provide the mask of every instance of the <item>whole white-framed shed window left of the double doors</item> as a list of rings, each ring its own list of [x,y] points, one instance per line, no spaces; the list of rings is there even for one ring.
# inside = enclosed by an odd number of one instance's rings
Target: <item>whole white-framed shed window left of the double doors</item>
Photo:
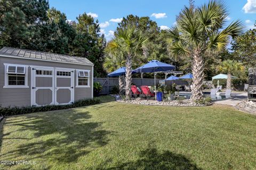
[[[3,88],[28,88],[28,66],[5,64]]]

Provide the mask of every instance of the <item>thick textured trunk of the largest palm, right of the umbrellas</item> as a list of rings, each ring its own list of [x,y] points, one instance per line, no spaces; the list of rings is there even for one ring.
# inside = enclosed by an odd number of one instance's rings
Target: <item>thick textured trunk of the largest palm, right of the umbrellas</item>
[[[204,80],[204,60],[200,49],[196,49],[193,53],[193,82],[191,88],[191,99],[200,100],[203,98],[202,85]]]

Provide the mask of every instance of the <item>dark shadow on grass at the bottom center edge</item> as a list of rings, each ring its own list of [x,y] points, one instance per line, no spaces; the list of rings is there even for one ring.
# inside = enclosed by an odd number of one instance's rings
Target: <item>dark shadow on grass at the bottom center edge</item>
[[[103,167],[103,165],[102,165]],[[120,163],[111,168],[97,168],[101,170],[117,170],[117,169],[147,169],[147,170],[169,170],[169,169],[193,169],[201,170],[195,163],[192,163],[183,155],[173,153],[170,151],[157,151],[156,148],[148,147],[139,153],[139,159],[136,161],[129,161],[127,163]]]

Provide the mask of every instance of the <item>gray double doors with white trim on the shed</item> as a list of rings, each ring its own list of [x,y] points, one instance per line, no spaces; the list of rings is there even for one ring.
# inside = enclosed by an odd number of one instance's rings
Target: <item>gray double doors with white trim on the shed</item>
[[[74,69],[31,67],[31,106],[74,102]]]

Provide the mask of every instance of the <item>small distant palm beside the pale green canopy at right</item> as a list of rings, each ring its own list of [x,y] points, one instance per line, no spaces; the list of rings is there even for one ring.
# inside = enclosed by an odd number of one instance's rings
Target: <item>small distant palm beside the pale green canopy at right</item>
[[[242,63],[239,63],[234,60],[225,60],[222,61],[221,65],[218,67],[218,70],[228,74],[227,89],[231,89],[231,74],[234,72],[243,71],[244,66],[242,65]]]

